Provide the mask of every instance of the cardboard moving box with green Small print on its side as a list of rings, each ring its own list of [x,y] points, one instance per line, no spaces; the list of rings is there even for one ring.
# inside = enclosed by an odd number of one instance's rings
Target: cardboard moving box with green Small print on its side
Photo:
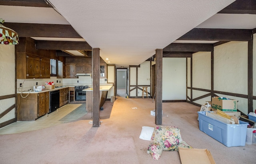
[[[220,99],[219,97],[212,98],[212,108],[220,109],[221,111],[237,111],[237,101],[228,99]]]

